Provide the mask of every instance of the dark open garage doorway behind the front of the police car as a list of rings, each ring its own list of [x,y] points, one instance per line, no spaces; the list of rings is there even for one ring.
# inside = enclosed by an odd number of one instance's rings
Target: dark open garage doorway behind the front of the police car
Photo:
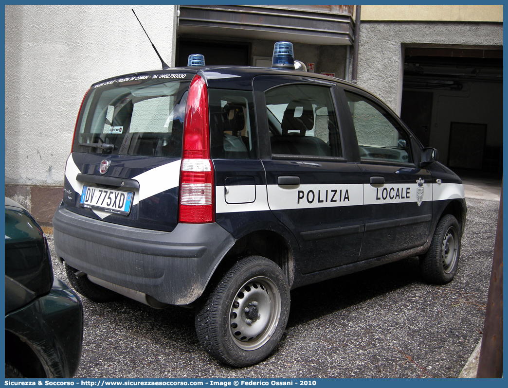
[[[502,174],[502,50],[405,48],[401,118],[454,171]]]

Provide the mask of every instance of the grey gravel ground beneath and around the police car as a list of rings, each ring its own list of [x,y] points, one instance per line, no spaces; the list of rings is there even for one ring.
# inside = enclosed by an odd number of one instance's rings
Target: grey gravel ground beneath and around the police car
[[[297,288],[274,353],[243,369],[200,347],[193,310],[82,298],[80,378],[457,377],[481,338],[499,202],[468,199],[455,279],[424,283],[418,259]],[[55,261],[55,276],[67,282]]]

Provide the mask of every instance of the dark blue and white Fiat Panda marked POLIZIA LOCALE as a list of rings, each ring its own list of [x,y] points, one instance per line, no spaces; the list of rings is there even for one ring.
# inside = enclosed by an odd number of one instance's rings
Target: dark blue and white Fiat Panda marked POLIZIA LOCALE
[[[53,218],[80,294],[194,306],[232,366],[277,345],[295,287],[409,256],[451,281],[466,219],[459,177],[382,101],[277,59],[93,84]]]

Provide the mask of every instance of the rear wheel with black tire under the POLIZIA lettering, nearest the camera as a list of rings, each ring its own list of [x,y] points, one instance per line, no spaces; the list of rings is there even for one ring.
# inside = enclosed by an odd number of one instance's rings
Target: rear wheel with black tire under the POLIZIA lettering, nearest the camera
[[[205,350],[233,367],[264,360],[288,323],[290,290],[282,270],[261,256],[236,263],[216,283],[196,313]]]

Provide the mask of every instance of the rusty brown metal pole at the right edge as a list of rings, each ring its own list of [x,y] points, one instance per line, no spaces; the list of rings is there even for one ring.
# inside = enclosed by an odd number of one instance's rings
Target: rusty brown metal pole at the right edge
[[[497,218],[494,260],[490,275],[487,313],[477,378],[501,378],[503,375],[503,188]]]

